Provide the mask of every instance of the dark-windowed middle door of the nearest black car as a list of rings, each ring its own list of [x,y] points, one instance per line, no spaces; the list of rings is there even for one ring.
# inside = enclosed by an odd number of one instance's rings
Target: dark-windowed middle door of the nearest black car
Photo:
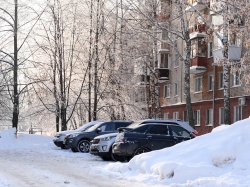
[[[166,124],[154,124],[146,133],[149,148],[151,150],[163,149],[174,145],[173,136],[170,135]]]

